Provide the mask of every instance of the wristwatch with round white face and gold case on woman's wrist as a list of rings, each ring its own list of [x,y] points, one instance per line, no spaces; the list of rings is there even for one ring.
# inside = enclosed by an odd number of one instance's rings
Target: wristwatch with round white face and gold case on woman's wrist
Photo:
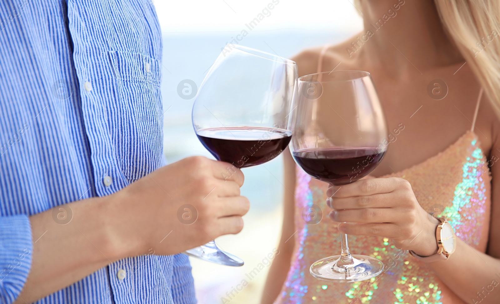
[[[456,235],[453,227],[451,227],[444,217],[440,217],[438,220],[441,223],[436,228],[437,253],[428,257],[420,257],[413,251],[409,251],[413,257],[422,262],[429,263],[447,260],[456,249]]]

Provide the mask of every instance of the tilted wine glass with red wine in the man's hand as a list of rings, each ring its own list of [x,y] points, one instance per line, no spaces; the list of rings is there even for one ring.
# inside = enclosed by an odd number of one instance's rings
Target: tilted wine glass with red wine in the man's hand
[[[229,48],[211,66],[192,108],[199,141],[217,160],[229,163],[226,177],[270,161],[286,148],[297,82],[292,60],[240,45]],[[217,264],[243,265],[214,241],[186,253]]]

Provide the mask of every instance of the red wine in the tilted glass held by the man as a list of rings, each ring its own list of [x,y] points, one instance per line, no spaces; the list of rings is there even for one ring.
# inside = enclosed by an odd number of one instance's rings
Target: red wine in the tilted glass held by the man
[[[278,156],[290,142],[291,132],[242,126],[200,129],[196,136],[217,160],[244,168],[263,164]]]

